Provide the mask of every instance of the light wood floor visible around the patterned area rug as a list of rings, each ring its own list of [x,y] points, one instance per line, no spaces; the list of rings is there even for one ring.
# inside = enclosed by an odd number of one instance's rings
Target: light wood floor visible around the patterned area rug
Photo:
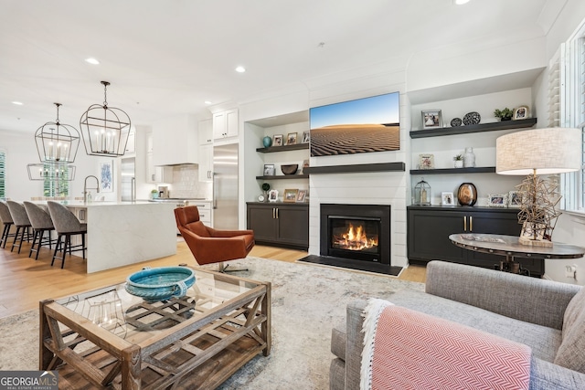
[[[40,300],[59,298],[83,290],[93,290],[122,282],[128,275],[150,267],[176,266],[180,263],[196,264],[189,248],[182,239],[177,239],[176,255],[145,261],[117,269],[86,273],[85,262],[79,257],[67,257],[65,268],[60,261],[51,267],[52,252],[42,248],[38,260],[28,258],[30,244],[23,245],[20,254],[10,251],[11,242],[0,248],[0,318],[22,311],[38,308]],[[307,256],[307,252],[257,245],[250,256],[294,262]],[[404,269],[399,279],[424,282],[426,269],[411,266]]]

